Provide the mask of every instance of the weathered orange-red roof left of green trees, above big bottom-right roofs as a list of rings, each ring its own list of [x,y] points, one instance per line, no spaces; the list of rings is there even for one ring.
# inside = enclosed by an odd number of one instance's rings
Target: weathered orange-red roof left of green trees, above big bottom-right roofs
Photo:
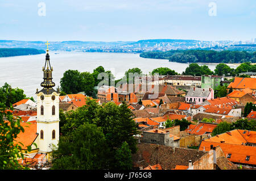
[[[186,132],[190,134],[201,135],[205,133],[212,133],[213,129],[217,127],[217,124],[210,124],[210,123],[199,123],[197,125],[189,125]]]

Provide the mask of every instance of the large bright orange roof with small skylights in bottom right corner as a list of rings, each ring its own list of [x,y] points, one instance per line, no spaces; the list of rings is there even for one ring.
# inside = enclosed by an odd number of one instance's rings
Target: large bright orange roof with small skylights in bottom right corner
[[[255,146],[222,144],[217,142],[207,142],[203,140],[200,144],[199,150],[209,151],[210,145],[213,145],[214,147],[220,145],[222,151],[226,156],[228,156],[228,154],[231,154],[231,157],[228,158],[230,162],[256,165],[256,147]],[[246,161],[247,156],[250,156],[249,161]]]

